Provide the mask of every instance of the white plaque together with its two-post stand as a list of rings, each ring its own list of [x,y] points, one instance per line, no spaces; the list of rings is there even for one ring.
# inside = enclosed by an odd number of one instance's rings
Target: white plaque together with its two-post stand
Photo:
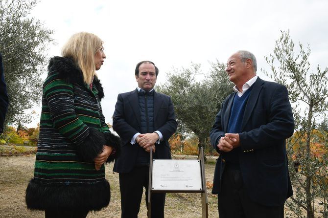
[[[197,161],[198,160],[198,161]],[[148,180],[148,199],[147,217],[151,218],[151,195],[156,193],[201,193],[202,199],[202,218],[208,218],[208,199],[205,178],[205,163],[203,148],[199,149],[197,160],[153,160],[153,151],[150,150],[149,160],[149,180]],[[156,161],[156,162],[154,162]],[[172,163],[174,161],[175,163]],[[179,162],[182,161],[182,162]],[[173,170],[167,170],[173,164]],[[165,167],[163,168],[163,165]],[[180,169],[181,166],[185,167]],[[198,165],[198,167],[197,167]],[[188,167],[192,166],[190,170]],[[196,171],[198,168],[198,171]],[[185,174],[185,173],[192,174]],[[199,173],[194,173],[199,172]],[[155,180],[153,178],[155,174]],[[157,176],[156,176],[157,174]],[[160,176],[159,176],[160,174]],[[184,181],[186,187],[182,187],[179,182]],[[160,183],[159,183],[160,182]],[[199,182],[199,183],[198,183]],[[154,183],[154,184],[153,184]],[[191,185],[190,185],[190,184]],[[160,185],[159,185],[160,184]],[[198,185],[197,185],[198,184]],[[171,187],[168,187],[170,186]],[[166,188],[167,187],[167,188]],[[197,187],[197,188],[196,188]]]

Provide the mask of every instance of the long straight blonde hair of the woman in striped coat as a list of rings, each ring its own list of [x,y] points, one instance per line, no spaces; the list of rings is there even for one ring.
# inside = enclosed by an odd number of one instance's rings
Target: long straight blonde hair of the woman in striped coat
[[[83,80],[90,85],[94,79],[94,55],[103,42],[93,33],[80,32],[72,35],[62,48],[62,56],[73,59],[81,68]]]

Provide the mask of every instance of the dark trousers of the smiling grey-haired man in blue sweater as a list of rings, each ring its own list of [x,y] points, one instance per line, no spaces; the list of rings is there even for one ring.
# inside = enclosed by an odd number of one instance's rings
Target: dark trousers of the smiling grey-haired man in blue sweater
[[[217,198],[220,218],[283,218],[283,205],[269,207],[252,201],[240,170],[227,163]]]

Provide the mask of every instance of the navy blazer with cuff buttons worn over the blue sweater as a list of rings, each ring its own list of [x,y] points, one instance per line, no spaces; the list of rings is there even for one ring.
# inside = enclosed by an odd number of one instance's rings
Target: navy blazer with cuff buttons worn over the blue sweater
[[[227,132],[234,95],[222,103],[210,132],[211,144],[218,153],[217,144]],[[294,131],[294,119],[287,88],[260,78],[253,84],[242,120],[240,170],[245,188],[255,202],[267,206],[282,205],[293,195],[288,173],[285,139]],[[220,195],[220,181],[225,160],[217,159],[213,194]]]

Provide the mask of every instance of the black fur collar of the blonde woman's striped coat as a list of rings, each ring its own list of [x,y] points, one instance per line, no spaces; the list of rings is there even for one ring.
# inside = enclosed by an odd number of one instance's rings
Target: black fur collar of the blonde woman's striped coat
[[[82,71],[76,63],[70,58],[64,58],[55,56],[50,59],[48,65],[48,72],[58,71],[60,76],[68,83],[77,83],[84,86]],[[95,76],[93,85],[98,90],[98,97],[102,99],[104,95],[104,89],[101,86],[100,80]]]

